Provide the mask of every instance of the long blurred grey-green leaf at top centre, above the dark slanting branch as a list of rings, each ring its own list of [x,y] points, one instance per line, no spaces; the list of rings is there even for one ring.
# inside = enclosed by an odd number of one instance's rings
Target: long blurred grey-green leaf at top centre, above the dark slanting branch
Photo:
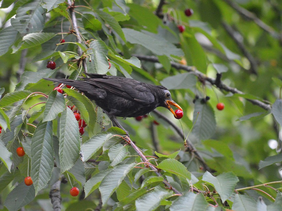
[[[184,55],[181,49],[176,48],[164,38],[157,38],[156,34],[138,32],[130,28],[123,28],[123,33],[129,43],[142,45],[156,55],[166,55],[167,57]]]

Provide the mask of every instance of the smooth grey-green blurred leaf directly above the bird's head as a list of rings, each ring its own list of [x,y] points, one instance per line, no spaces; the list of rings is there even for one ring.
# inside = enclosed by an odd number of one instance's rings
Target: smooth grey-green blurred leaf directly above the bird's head
[[[160,83],[167,89],[192,89],[196,87],[196,76],[192,73],[182,73],[166,77]]]

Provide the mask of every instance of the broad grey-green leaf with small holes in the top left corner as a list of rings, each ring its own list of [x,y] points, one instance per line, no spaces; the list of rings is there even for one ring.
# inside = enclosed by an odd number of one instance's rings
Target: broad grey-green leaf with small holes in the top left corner
[[[11,24],[19,33],[40,32],[44,25],[42,15],[44,13],[45,11],[38,1],[31,2],[18,8],[16,18],[11,19]]]

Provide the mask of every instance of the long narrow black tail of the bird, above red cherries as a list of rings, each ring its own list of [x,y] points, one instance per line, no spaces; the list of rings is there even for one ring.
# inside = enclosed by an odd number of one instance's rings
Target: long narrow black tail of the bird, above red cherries
[[[43,78],[43,79],[73,86],[78,90],[80,90],[81,92],[87,92],[93,89],[93,85],[89,84],[85,80],[76,81],[76,80],[65,79],[65,78]]]

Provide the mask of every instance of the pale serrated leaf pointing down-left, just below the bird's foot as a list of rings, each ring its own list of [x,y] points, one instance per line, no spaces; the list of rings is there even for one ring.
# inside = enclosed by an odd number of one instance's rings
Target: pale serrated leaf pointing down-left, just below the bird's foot
[[[103,146],[103,144],[113,136],[114,134],[112,133],[98,134],[83,143],[81,146],[82,161],[85,162],[89,160]]]

